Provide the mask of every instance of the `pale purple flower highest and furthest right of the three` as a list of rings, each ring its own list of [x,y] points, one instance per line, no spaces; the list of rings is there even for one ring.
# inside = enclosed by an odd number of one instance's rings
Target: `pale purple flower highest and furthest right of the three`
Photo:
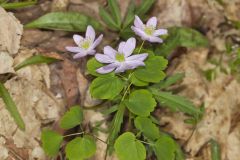
[[[160,35],[167,34],[166,29],[156,29],[157,27],[157,18],[152,17],[147,21],[147,24],[143,24],[141,19],[138,16],[135,16],[134,26],[132,30],[142,38],[153,43],[162,43],[163,40],[159,38]]]

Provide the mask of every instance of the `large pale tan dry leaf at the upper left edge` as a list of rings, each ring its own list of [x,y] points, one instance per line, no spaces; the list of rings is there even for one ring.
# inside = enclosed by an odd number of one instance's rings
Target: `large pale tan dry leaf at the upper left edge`
[[[20,47],[23,26],[13,16],[0,7],[0,51],[16,54]]]

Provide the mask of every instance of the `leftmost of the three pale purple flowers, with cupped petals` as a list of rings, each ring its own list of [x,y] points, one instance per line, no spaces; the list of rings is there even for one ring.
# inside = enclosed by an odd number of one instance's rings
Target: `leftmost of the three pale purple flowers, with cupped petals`
[[[85,38],[80,35],[74,34],[73,40],[76,43],[76,47],[67,46],[66,50],[75,53],[73,56],[74,59],[81,58],[86,55],[94,55],[96,53],[95,48],[102,41],[103,35],[101,34],[95,40],[96,33],[92,26],[87,27]]]

